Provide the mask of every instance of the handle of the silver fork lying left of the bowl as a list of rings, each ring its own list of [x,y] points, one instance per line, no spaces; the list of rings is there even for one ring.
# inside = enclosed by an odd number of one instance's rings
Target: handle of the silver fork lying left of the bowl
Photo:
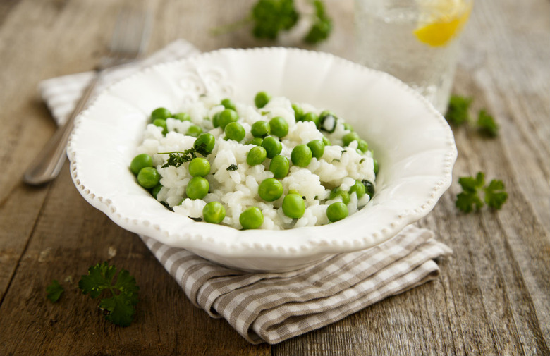
[[[71,135],[71,131],[74,128],[75,117],[78,116],[80,111],[85,109],[92,96],[97,82],[99,81],[99,72],[90,82],[86,88],[82,97],[75,106],[73,113],[68,117],[67,122],[59,127],[53,136],[49,139],[42,151],[32,161],[25,175],[23,181],[30,185],[40,185],[54,180],[59,175],[63,163],[67,157],[66,147],[68,138]]]

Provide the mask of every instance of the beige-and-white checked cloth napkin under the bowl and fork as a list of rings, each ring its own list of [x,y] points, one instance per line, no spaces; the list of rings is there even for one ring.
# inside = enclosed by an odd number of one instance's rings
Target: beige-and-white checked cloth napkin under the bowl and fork
[[[172,42],[143,61],[105,75],[98,91],[145,66],[198,53],[188,42]],[[66,120],[93,75],[66,75],[40,83],[57,123]],[[225,318],[250,343],[279,343],[432,281],[439,276],[435,260],[451,254],[432,231],[411,225],[377,247],[329,256],[298,271],[250,273],[140,238],[195,306],[211,317]]]

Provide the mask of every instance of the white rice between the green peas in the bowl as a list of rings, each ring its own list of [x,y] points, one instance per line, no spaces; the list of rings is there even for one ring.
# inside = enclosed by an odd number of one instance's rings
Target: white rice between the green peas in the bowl
[[[369,180],[374,183],[374,161],[371,152],[360,154],[357,152],[357,142],[352,142],[348,147],[342,147],[342,137],[350,130],[346,130],[343,120],[338,118],[334,133],[319,131],[310,121],[296,122],[291,102],[284,97],[274,97],[262,109],[255,106],[236,103],[239,115],[238,123],[245,128],[246,135],[241,142],[224,140],[224,132],[221,128],[214,128],[210,118],[224,110],[220,99],[212,96],[202,97],[200,101],[182,105],[173,112],[186,112],[192,121],[179,121],[168,118],[166,125],[169,133],[162,135],[162,129],[149,124],[145,130],[142,144],[136,154],[149,154],[153,157],[154,166],[161,175],[161,190],[157,194],[157,200],[168,204],[176,214],[191,218],[201,218],[202,208],[208,202],[221,202],[226,209],[226,217],[222,223],[234,228],[241,228],[239,223],[240,213],[248,207],[258,207],[264,214],[264,223],[260,228],[285,229],[299,226],[316,226],[329,223],[326,217],[326,208],[333,202],[341,202],[337,197],[328,200],[333,188],[349,190],[356,180]],[[314,112],[317,115],[323,109],[317,109],[309,104],[298,104],[304,112]],[[170,108],[169,108],[170,109]],[[281,179],[283,195],[274,202],[262,200],[258,195],[258,185],[266,178],[273,178],[274,174],[268,169],[269,161],[263,164],[250,166],[246,162],[247,153],[254,145],[245,145],[244,142],[252,140],[250,128],[256,121],[269,121],[271,118],[281,116],[288,123],[288,135],[282,138],[283,149],[281,154],[291,163],[293,147],[307,144],[311,140],[322,140],[323,135],[331,141],[326,146],[320,159],[312,158],[311,163],[300,168],[293,166],[288,176]],[[216,138],[216,145],[208,159],[211,169],[205,176],[209,181],[209,193],[202,200],[191,200],[185,195],[185,186],[192,176],[188,172],[188,163],[179,167],[168,166],[162,168],[169,158],[168,154],[159,152],[183,152],[193,147],[195,137],[184,135],[190,125],[200,125],[204,132],[211,133]],[[232,164],[238,169],[228,171]],[[289,190],[297,190],[305,198],[305,214],[300,219],[291,219],[283,214],[281,208],[283,197]],[[350,195],[348,205],[349,214],[355,213],[369,202],[369,195],[365,194],[357,200],[353,192]]]

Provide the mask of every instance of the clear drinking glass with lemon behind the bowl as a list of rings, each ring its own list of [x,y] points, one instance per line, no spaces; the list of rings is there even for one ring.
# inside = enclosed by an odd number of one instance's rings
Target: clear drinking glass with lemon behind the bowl
[[[403,80],[444,114],[471,9],[472,0],[355,0],[357,60]]]

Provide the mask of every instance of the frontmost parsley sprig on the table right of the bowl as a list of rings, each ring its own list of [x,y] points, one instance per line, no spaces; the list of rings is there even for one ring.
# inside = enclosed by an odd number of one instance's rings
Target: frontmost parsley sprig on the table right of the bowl
[[[508,199],[502,180],[493,179],[485,185],[485,176],[482,172],[477,173],[475,177],[461,177],[458,183],[463,192],[456,196],[456,207],[465,213],[481,209],[484,203],[493,209],[501,209]]]

